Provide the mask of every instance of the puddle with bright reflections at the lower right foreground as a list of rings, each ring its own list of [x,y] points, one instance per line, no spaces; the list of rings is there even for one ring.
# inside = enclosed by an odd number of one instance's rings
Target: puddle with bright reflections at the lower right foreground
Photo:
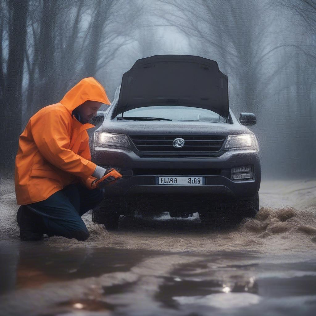
[[[179,314],[198,310],[204,315],[214,308],[214,311],[223,312],[234,309],[234,314],[242,315],[242,309],[246,307],[269,306],[277,299],[282,305],[281,300],[301,297],[304,301],[308,297],[306,310],[309,314],[311,306],[316,306],[316,260],[260,263],[264,260],[258,259],[247,253],[221,253],[199,262],[182,264],[170,276],[162,277],[155,299]],[[274,261],[273,258],[270,260]],[[233,261],[235,263],[230,264]],[[296,315],[290,309],[284,314]]]

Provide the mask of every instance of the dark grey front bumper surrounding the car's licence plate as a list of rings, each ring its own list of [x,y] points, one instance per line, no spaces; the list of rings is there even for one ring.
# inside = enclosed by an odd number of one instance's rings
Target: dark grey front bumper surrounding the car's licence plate
[[[140,194],[189,193],[252,197],[260,188],[260,159],[255,150],[230,150],[215,158],[149,158],[139,157],[126,148],[97,147],[92,151],[92,158],[99,166],[121,169],[123,177],[105,187],[105,196],[127,198]],[[232,181],[230,169],[245,165],[253,165],[254,178]],[[156,185],[158,176],[204,176],[205,185]]]

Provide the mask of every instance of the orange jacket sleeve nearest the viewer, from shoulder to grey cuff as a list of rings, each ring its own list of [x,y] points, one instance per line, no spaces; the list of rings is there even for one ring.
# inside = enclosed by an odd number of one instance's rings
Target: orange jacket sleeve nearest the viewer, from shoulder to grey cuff
[[[39,152],[52,165],[83,179],[92,175],[96,164],[69,149],[68,122],[64,112],[51,110],[33,122],[31,118],[31,128]]]

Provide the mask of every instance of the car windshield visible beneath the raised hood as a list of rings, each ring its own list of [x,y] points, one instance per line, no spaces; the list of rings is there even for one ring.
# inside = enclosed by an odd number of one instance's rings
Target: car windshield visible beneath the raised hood
[[[122,113],[116,118],[121,118]],[[131,109],[123,113],[123,119],[126,118],[160,118],[172,121],[198,121],[226,123],[226,119],[221,115],[207,109],[191,106],[145,106]]]

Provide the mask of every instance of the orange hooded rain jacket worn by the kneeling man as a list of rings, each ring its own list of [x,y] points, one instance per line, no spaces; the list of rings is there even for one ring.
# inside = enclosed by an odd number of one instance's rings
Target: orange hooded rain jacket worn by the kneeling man
[[[88,128],[72,110],[83,102],[110,104],[105,89],[93,77],[84,78],[64,98],[35,113],[19,138],[15,157],[18,205],[39,202],[65,185],[81,181],[89,189],[96,164],[91,161]]]

